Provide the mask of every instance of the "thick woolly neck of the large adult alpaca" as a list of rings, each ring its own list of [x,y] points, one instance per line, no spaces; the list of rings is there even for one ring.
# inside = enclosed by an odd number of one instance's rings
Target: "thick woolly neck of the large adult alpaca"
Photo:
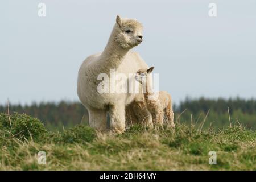
[[[117,69],[122,63],[126,54],[129,52],[129,49],[122,48],[121,45],[115,40],[117,34],[118,31],[115,25],[110,35],[108,44],[101,54],[101,57],[104,58],[102,59],[101,64],[104,65],[103,68],[105,71],[110,71],[110,69]]]

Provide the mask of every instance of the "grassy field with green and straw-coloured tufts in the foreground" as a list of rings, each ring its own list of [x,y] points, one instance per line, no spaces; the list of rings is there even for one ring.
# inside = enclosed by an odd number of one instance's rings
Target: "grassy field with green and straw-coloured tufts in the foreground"
[[[0,114],[1,170],[256,170],[256,133],[237,126],[130,127],[122,135],[84,125],[48,131],[28,115]],[[38,152],[46,152],[46,165]],[[210,165],[209,151],[217,164]]]

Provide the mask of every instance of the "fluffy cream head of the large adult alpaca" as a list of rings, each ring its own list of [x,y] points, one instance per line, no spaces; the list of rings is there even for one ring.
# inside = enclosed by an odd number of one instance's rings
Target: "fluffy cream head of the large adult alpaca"
[[[142,24],[135,19],[121,18],[117,15],[115,41],[124,49],[131,49],[142,42]]]

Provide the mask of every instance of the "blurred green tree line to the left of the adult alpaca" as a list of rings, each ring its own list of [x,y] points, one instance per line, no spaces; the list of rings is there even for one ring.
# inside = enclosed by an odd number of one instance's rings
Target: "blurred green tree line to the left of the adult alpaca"
[[[0,105],[0,113],[7,113],[7,106]],[[83,116],[85,121],[88,118],[88,112],[85,107],[79,102],[65,102],[59,103],[47,102],[40,104],[32,104],[22,106],[10,104],[10,114],[26,113],[32,117],[40,119],[49,130],[63,130],[65,128],[73,127],[80,124]]]

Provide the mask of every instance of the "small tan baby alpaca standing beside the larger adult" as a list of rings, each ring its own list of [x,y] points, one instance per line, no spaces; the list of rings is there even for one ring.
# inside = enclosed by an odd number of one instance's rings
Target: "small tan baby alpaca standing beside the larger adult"
[[[163,124],[163,117],[165,114],[171,127],[175,127],[171,95],[166,91],[160,91],[158,92],[158,99],[154,98],[155,93],[152,92],[151,83],[147,79],[148,74],[150,74],[153,69],[154,67],[149,69],[139,69],[135,75],[135,80],[142,84],[146,106],[152,115],[152,121],[154,123]]]

